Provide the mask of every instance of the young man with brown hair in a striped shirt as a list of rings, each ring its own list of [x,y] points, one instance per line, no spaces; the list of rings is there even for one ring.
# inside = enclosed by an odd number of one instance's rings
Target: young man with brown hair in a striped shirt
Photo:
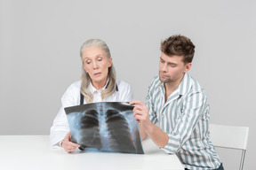
[[[209,139],[209,103],[188,71],[195,45],[172,35],[161,43],[159,74],[148,88],[147,104],[134,100],[142,139],[149,136],[167,153],[175,153],[185,169],[223,169]],[[157,126],[156,126],[157,125]]]

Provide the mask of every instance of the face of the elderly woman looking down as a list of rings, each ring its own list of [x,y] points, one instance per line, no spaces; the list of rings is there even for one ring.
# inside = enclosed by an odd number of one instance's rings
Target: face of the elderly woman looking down
[[[98,46],[87,47],[82,55],[84,70],[89,73],[92,85],[96,89],[105,86],[108,80],[108,67],[112,58],[107,58],[106,52]]]

